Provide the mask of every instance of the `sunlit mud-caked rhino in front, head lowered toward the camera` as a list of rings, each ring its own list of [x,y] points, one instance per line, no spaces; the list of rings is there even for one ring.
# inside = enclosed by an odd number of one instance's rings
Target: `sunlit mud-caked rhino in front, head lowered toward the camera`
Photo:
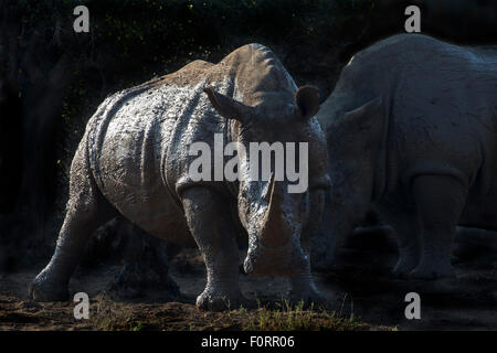
[[[250,244],[246,271],[290,276],[292,298],[322,300],[308,256],[308,235],[322,215],[329,184],[318,106],[317,89],[297,90],[276,56],[258,44],[242,46],[216,65],[195,61],[108,97],[74,157],[65,221],[31,297],[66,299],[86,239],[117,211],[159,238],[194,239],[208,275],[197,299],[202,309],[243,301],[235,242],[242,226]],[[189,167],[197,156],[189,156],[190,146],[203,141],[213,151],[214,133],[223,135],[224,145],[240,141],[247,150],[251,141],[309,142],[307,192],[287,193],[286,181],[251,180],[245,164],[240,182],[192,181]]]

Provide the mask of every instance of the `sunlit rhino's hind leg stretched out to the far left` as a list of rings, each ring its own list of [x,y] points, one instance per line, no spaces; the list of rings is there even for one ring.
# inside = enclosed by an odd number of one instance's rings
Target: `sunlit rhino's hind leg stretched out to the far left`
[[[71,167],[66,214],[49,265],[31,282],[29,295],[36,301],[67,300],[67,286],[86,240],[93,231],[115,215],[87,168],[85,149],[80,148]]]

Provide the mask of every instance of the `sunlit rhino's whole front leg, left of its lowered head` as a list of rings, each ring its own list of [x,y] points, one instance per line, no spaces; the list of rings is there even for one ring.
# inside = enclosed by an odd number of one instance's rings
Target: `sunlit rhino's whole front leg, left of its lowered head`
[[[197,307],[220,311],[245,301],[239,287],[239,247],[226,201],[205,186],[183,191],[188,226],[205,261],[207,286]]]

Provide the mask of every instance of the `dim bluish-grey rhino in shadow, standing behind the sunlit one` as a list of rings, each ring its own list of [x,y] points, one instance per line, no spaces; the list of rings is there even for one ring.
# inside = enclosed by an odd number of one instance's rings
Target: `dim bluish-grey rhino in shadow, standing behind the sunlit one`
[[[495,49],[389,38],[352,57],[318,119],[330,158],[330,248],[373,206],[398,234],[395,275],[452,277],[456,225],[497,229]]]

